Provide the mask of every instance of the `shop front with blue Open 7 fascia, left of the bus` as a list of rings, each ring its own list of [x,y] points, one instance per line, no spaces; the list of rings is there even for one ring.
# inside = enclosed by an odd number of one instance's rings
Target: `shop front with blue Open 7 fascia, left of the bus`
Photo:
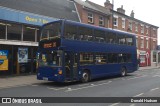
[[[54,21],[0,6],[0,75],[36,72],[41,25]]]

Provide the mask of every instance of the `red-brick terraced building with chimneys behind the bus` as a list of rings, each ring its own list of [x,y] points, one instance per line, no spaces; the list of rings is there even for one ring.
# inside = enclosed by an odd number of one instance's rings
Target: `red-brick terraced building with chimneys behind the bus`
[[[113,10],[113,5],[106,0],[104,6],[89,0],[74,0],[82,23],[113,28],[128,33],[134,33],[137,40],[137,57],[141,59],[140,66],[151,66],[155,62],[158,27],[134,18],[134,11],[130,16],[125,14],[123,5]],[[113,20],[112,20],[113,19]]]

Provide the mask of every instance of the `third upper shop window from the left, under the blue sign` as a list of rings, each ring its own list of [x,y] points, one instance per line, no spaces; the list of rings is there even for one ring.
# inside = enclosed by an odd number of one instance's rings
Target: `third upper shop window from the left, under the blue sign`
[[[23,27],[23,41],[35,42],[36,28],[30,26]]]

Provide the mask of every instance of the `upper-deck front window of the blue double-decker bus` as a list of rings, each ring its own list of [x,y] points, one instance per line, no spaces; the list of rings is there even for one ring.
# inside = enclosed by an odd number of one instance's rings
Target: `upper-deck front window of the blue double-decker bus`
[[[43,27],[41,40],[59,38],[61,34],[61,23],[51,23]]]

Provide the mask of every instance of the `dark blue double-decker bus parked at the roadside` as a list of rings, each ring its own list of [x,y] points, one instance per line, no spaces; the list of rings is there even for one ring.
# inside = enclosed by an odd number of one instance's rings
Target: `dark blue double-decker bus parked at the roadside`
[[[88,82],[137,70],[135,35],[57,20],[42,27],[38,80]]]

